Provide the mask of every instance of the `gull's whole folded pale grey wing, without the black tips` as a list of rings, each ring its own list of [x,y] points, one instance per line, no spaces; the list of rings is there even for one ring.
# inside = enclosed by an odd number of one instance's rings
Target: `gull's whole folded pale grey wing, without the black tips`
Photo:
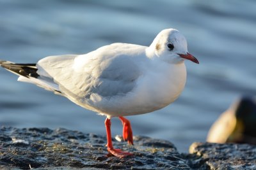
[[[76,57],[47,57],[36,65],[40,76],[51,77],[61,92],[73,99],[90,99],[92,94],[102,97],[122,96],[130,92],[140,76],[138,66],[128,56],[102,59],[91,55]],[[84,62],[85,60],[85,62]]]

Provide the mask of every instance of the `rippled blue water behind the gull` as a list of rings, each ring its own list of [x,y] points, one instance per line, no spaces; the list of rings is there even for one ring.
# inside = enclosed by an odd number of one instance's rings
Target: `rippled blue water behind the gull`
[[[149,45],[162,29],[179,29],[200,64],[186,62],[186,88],[175,103],[128,117],[135,135],[172,141],[188,152],[205,141],[218,116],[256,91],[254,1],[0,0],[0,58],[36,62],[48,55],[86,53],[109,43]],[[65,127],[105,134],[104,119],[68,99],[17,82],[0,69],[0,124]],[[113,118],[112,133],[122,133]]]

